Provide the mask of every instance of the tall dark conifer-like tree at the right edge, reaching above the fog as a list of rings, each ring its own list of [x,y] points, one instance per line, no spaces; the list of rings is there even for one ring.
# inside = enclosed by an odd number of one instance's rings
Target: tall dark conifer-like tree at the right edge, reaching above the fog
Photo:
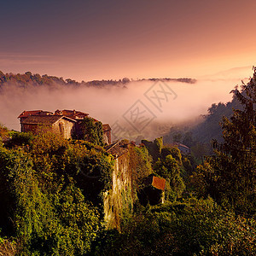
[[[232,92],[242,108],[223,118],[224,143],[213,141],[215,155],[199,166],[194,178],[201,186],[199,194],[210,194],[236,213],[251,216],[256,212],[256,69],[241,91],[236,87]]]

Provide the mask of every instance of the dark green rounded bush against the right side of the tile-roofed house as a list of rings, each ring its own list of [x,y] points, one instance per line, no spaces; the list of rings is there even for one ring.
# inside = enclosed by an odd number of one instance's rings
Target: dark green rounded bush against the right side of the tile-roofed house
[[[102,122],[85,117],[81,123],[83,139],[95,145],[104,145]]]

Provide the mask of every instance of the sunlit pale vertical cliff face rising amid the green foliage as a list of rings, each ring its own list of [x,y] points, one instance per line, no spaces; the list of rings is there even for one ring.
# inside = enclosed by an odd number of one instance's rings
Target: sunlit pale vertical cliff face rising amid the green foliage
[[[115,159],[112,183],[112,189],[104,194],[105,221],[108,229],[119,230],[121,218],[133,207],[128,152]]]

